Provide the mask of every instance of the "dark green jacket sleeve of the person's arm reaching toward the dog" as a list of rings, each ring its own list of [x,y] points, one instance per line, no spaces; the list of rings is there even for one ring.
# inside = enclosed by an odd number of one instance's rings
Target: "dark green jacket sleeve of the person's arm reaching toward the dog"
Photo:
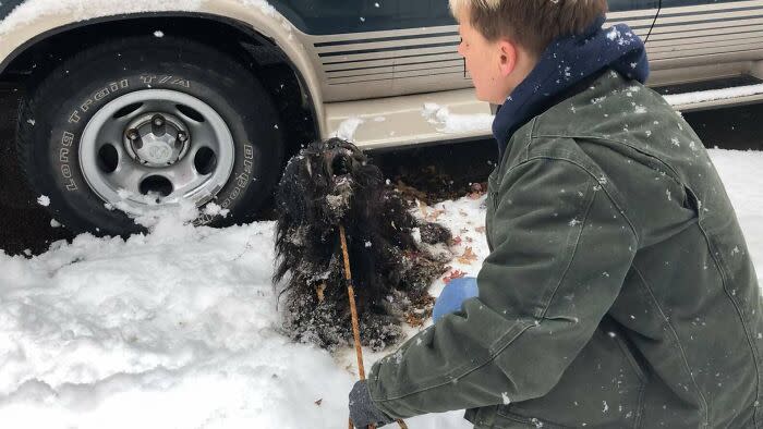
[[[370,371],[374,403],[396,418],[508,404],[549,392],[615,302],[637,236],[605,186],[578,164],[514,167],[488,228],[479,297]]]

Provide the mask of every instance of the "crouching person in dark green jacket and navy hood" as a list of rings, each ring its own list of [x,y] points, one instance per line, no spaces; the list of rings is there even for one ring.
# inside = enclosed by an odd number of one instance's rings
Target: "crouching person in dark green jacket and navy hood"
[[[450,0],[500,105],[477,296],[377,361],[356,427],[763,427],[763,308],[702,142],[605,0]]]

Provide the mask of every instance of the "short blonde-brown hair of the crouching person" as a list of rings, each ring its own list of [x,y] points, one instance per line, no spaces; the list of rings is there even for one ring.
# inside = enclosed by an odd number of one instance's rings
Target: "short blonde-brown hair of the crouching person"
[[[607,0],[449,0],[450,11],[487,40],[506,37],[533,53],[542,53],[560,36],[581,34],[607,13]]]

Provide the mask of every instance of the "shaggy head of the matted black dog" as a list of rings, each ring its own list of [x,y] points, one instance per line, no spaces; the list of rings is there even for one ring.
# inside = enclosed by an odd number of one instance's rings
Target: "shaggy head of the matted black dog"
[[[378,197],[382,172],[352,143],[314,142],[293,157],[281,179],[277,203],[281,216],[303,224],[337,224]]]

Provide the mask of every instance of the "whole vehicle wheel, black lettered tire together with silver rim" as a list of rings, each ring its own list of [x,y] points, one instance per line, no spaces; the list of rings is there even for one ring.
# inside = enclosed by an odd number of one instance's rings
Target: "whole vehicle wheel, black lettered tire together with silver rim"
[[[233,57],[173,37],[132,37],[64,61],[26,97],[23,174],[72,232],[125,235],[157,207],[215,203],[217,225],[254,219],[280,173],[274,103]],[[207,210],[208,211],[208,210]]]

